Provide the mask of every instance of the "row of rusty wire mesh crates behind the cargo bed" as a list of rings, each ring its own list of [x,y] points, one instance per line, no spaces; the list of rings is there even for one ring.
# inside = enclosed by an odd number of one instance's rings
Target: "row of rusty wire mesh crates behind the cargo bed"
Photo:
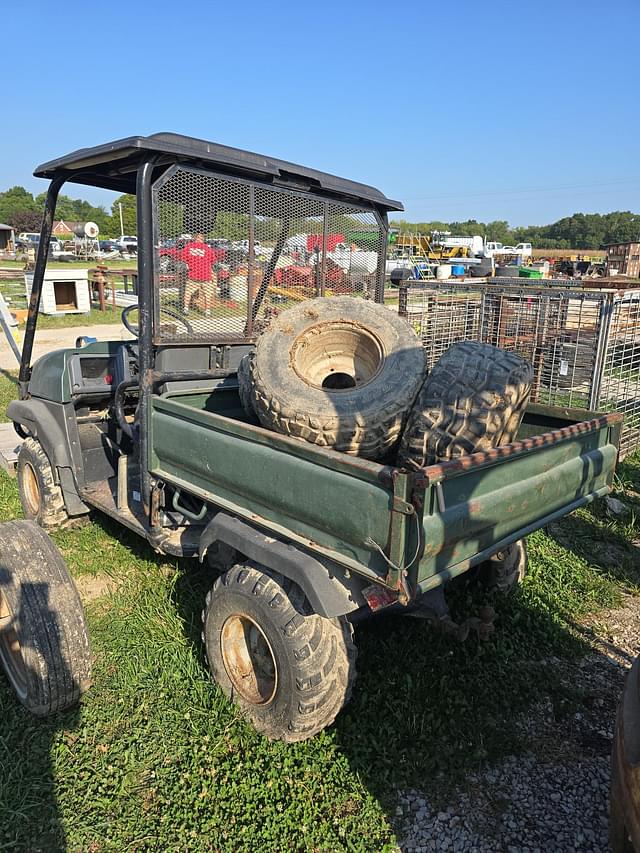
[[[622,412],[621,455],[640,448],[640,290],[411,283],[399,310],[428,367],[457,341],[518,352],[534,368],[533,401]]]

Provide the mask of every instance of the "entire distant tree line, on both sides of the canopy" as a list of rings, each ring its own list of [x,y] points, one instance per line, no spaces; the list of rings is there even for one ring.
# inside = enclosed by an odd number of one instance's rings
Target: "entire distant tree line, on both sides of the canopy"
[[[45,193],[34,197],[20,186],[0,192],[0,222],[11,225],[18,232],[38,231],[44,200]],[[60,195],[56,219],[66,222],[95,222],[102,236],[115,237],[121,233],[121,209],[123,233],[135,234],[136,200],[132,195],[119,196],[111,205],[111,211],[83,199]],[[169,211],[165,215],[168,219],[172,218]],[[396,219],[392,220],[391,227],[403,232],[421,234],[431,231],[450,231],[452,234],[469,237],[479,234],[487,240],[497,240],[504,245],[526,242],[540,249],[599,249],[606,243],[640,241],[640,214],[628,210],[612,213],[574,213],[551,225],[519,228],[512,228],[502,219],[492,222],[478,222],[475,219],[467,219],[464,222],[408,222]]]

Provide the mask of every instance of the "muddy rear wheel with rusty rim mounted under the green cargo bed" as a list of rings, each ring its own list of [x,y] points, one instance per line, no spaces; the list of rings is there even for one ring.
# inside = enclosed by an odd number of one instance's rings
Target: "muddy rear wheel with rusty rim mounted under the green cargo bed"
[[[288,578],[258,563],[233,566],[207,595],[203,621],[214,679],[269,739],[306,740],[348,702],[356,659],[351,625],[313,613]],[[243,664],[243,637],[253,643],[253,668]]]

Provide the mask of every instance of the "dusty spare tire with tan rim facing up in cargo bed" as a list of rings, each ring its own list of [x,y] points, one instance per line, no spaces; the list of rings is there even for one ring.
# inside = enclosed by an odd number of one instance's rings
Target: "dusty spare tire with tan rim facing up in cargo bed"
[[[423,372],[420,340],[397,314],[320,297],[284,311],[258,338],[251,403],[268,429],[379,459],[400,437]]]

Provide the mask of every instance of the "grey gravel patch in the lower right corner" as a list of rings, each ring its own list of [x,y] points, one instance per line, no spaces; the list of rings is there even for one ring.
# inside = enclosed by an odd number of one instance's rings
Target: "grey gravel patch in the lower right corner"
[[[467,776],[439,808],[423,792],[399,792],[402,851],[606,853],[615,710],[625,672],[640,652],[637,598],[625,597],[621,608],[600,612],[580,630],[589,654],[539,664],[579,685],[584,709],[559,720],[543,698],[520,721],[523,754]]]

